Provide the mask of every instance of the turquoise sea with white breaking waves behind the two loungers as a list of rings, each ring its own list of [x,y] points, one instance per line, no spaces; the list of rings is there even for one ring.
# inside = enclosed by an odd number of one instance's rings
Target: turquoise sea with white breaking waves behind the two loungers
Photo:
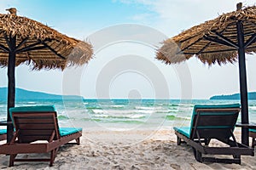
[[[195,104],[235,104],[239,100],[208,99],[84,99],[18,101],[16,106],[55,105],[61,127],[87,130],[140,130],[189,125]],[[250,122],[256,122],[256,100],[250,100]],[[6,120],[6,102],[0,101],[0,121]],[[240,116],[238,121],[240,120]]]

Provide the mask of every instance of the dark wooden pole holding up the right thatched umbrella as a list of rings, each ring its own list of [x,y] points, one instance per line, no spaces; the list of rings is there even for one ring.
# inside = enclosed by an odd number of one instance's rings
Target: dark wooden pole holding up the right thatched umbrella
[[[248,99],[247,99],[247,71],[245,64],[245,45],[244,32],[241,21],[236,23],[237,40],[238,40],[238,61],[239,61],[239,77],[240,77],[240,96],[241,96],[241,123],[249,123],[248,117]],[[249,145],[248,127],[241,127],[241,143]]]

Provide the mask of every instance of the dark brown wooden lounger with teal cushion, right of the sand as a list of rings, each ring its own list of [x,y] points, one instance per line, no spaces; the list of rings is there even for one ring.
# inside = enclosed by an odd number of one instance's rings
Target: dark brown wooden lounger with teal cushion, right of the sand
[[[189,144],[197,161],[241,164],[241,156],[254,156],[254,150],[236,141],[233,133],[240,105],[195,105],[189,127],[174,127],[177,144]],[[211,139],[227,144],[209,146]],[[233,158],[203,157],[204,155],[230,155]]]

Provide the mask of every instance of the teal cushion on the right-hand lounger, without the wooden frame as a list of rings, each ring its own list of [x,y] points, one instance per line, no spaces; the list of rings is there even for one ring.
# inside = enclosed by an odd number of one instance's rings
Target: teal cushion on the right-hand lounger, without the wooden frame
[[[224,109],[224,108],[240,108],[240,104],[230,104],[230,105],[195,105],[194,106],[194,110],[193,110],[193,114],[191,116],[190,127],[173,127],[173,128],[177,132],[182,133],[183,135],[185,135],[185,136],[187,136],[189,138],[190,137],[190,133],[192,131],[191,127],[193,126],[194,116],[196,115],[196,110],[197,109]],[[209,115],[213,115],[213,114],[218,115],[218,113],[211,113]],[[225,114],[233,114],[233,113],[225,113]],[[199,128],[201,128],[201,127],[199,127]],[[220,127],[216,127],[216,128],[220,128]]]

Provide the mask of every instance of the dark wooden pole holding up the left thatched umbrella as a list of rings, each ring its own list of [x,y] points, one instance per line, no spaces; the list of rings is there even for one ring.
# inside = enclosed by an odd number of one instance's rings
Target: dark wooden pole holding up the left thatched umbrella
[[[7,121],[11,122],[9,108],[15,107],[15,47],[16,37],[9,37],[9,60],[8,60],[8,107]],[[12,139],[14,133],[13,124],[7,125],[7,142]]]

